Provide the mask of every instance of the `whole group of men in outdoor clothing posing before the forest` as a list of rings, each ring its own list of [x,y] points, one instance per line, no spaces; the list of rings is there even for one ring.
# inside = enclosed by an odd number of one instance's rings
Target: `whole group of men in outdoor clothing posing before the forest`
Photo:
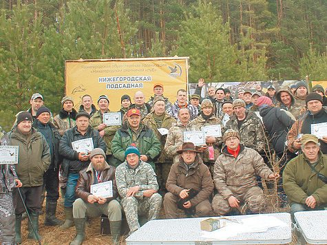
[[[73,98],[65,96],[52,117],[43,96],[33,94],[31,108],[17,114],[12,131],[1,130],[1,145],[19,146],[18,164],[0,165],[2,244],[22,242],[24,204],[31,220],[28,238],[41,237],[45,198],[45,225],[76,226],[73,245],[85,239],[87,217],[102,214],[108,215],[112,242],[118,244],[122,213],[133,233],[157,219],[162,204],[167,218],[183,212],[187,217],[260,213],[265,204],[261,180],[267,186],[278,183],[291,214],[325,209],[327,136],[313,134],[313,125],[327,124],[323,87],[309,93],[304,82],[294,92],[293,86],[276,91],[270,85],[266,94],[261,87],[240,89],[233,99],[229,89],[215,87],[202,98],[203,86],[200,79],[190,100],[179,89],[175,103],[163,96],[160,83],[147,103],[141,91],[134,94],[134,104],[125,94],[120,126],[104,123],[103,114],[111,112],[106,95],[99,96],[97,110],[85,94],[78,111]],[[201,146],[184,138],[184,132],[209,125],[219,125],[221,136],[206,136]],[[78,140],[92,142],[92,149],[79,150],[89,145]],[[96,195],[92,185],[99,183],[112,195]],[[56,218],[59,189],[65,222]]]

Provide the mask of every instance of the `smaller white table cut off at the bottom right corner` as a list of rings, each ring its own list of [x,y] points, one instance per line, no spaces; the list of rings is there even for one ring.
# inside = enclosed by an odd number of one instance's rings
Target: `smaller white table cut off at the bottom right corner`
[[[327,244],[327,210],[294,213],[297,227],[309,244]]]

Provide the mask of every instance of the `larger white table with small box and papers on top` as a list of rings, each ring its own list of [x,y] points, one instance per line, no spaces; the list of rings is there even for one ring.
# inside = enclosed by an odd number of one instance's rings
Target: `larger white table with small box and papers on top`
[[[208,239],[201,237],[200,221],[208,217],[171,220],[151,220],[126,239],[128,245],[156,244],[287,244],[291,242],[291,215],[289,213],[268,213],[286,224],[285,227],[269,228],[262,233],[239,233],[228,239]],[[254,215],[238,215],[229,218],[242,221]]]

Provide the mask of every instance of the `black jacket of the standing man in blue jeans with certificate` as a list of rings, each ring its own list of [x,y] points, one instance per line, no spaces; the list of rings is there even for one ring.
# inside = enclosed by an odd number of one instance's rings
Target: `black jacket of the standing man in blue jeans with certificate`
[[[65,131],[65,134],[63,134],[59,144],[59,153],[61,156],[63,156],[63,171],[65,176],[67,176],[68,173],[78,173],[85,167],[89,166],[90,161],[79,160],[78,152],[74,151],[72,148],[72,142],[86,138],[93,138],[94,148],[101,148],[103,151],[107,150],[105,141],[100,136],[98,131],[93,129],[91,126],[87,128],[84,136],[79,131],[77,131],[77,126]]]

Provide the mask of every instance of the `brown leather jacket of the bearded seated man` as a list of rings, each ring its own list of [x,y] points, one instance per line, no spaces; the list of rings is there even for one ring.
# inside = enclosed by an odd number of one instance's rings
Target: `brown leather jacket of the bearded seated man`
[[[107,165],[107,167],[105,167],[102,173],[103,177],[101,182],[112,180],[112,192],[114,196],[112,198],[107,198],[107,202],[110,202],[111,200],[114,200],[118,197],[115,170],[116,170],[115,167]],[[89,189],[91,187],[91,184],[93,183],[94,183],[94,169],[92,167],[92,162],[91,162],[89,163],[89,167],[79,172],[79,178],[77,180],[77,184],[75,188],[76,198],[82,198],[84,202],[87,202],[87,196],[90,195]]]

